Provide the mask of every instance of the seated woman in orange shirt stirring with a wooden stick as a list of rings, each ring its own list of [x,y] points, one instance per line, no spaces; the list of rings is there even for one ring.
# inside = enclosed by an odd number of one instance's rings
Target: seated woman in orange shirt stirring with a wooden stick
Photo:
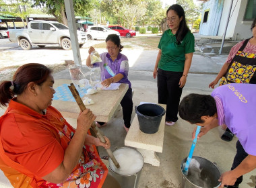
[[[0,85],[0,169],[13,187],[102,187],[108,170],[95,146],[110,148],[88,130],[86,109],[74,130],[51,106],[53,76],[43,64],[24,64]],[[105,184],[103,185],[103,187]]]

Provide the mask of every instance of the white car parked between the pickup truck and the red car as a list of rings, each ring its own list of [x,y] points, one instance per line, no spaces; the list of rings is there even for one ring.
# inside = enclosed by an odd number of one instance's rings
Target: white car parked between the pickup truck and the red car
[[[116,32],[104,26],[89,26],[86,34],[87,34],[88,40],[94,40],[94,39],[105,40],[109,34],[117,34],[120,37],[119,32]]]

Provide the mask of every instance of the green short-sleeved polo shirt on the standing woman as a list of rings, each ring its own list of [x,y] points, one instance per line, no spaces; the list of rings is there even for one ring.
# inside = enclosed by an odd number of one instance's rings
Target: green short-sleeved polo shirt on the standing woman
[[[187,32],[181,44],[176,44],[176,37],[171,30],[166,30],[158,44],[162,50],[158,68],[164,71],[183,72],[185,54],[195,52],[195,38],[191,32]]]

